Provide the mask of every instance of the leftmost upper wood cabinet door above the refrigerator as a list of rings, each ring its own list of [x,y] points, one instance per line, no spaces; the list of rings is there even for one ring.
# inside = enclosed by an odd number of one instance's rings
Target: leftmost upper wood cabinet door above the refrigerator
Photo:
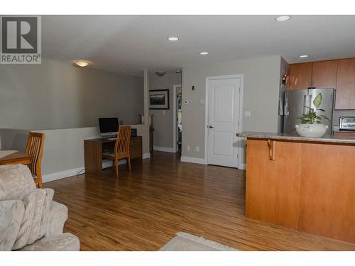
[[[307,89],[311,87],[312,82],[312,62],[290,65],[288,74],[288,89]]]

